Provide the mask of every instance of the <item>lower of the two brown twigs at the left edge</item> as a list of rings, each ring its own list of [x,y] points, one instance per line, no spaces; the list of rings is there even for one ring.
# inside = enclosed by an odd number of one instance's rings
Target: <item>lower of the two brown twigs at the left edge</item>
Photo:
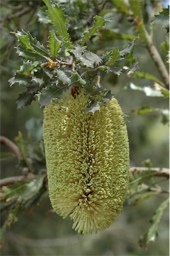
[[[15,184],[20,181],[33,181],[37,175],[33,173],[28,173],[27,175],[21,175],[21,176],[13,176],[13,177],[7,177],[4,179],[0,179],[0,187]]]

